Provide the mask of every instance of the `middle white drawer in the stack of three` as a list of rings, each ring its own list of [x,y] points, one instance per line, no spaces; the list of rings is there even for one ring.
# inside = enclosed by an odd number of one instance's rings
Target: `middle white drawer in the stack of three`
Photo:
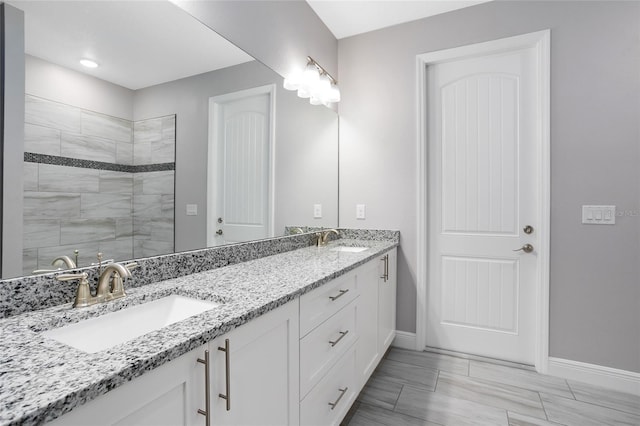
[[[300,341],[300,397],[304,397],[357,340],[356,302],[351,301]]]

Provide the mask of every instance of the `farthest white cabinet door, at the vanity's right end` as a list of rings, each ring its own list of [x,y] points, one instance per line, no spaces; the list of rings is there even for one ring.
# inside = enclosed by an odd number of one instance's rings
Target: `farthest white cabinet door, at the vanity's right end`
[[[381,355],[384,355],[396,336],[396,253],[395,249],[387,253],[381,258],[379,265],[378,343]],[[388,257],[385,260],[386,256]]]

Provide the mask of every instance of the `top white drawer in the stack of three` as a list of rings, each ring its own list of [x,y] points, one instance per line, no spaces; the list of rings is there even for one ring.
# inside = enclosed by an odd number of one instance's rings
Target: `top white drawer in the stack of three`
[[[356,274],[348,273],[300,298],[300,337],[358,296]]]

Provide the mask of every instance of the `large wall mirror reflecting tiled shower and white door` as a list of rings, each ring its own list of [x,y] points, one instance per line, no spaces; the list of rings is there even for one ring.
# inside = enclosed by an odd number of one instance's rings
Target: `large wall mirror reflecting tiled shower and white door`
[[[2,278],[338,225],[337,114],[212,29],[168,1],[7,3],[25,18],[24,238]]]

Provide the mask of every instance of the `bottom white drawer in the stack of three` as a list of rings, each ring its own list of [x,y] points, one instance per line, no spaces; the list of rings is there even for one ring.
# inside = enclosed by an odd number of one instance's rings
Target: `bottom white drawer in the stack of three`
[[[338,425],[358,396],[352,346],[300,403],[301,425]]]

